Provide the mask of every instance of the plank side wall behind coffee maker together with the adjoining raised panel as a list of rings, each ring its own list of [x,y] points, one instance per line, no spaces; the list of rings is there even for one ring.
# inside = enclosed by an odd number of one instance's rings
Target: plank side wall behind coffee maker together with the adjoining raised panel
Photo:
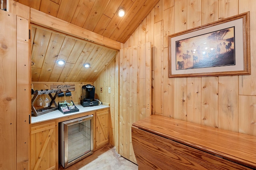
[[[122,156],[136,162],[131,125],[151,114],[151,45],[127,47],[118,56],[96,80],[96,93],[110,103],[110,143]],[[108,87],[114,90],[110,94]]]

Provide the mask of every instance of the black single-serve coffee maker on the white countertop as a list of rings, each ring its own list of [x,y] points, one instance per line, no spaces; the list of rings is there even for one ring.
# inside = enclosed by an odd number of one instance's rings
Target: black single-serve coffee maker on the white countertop
[[[92,86],[91,84],[86,84],[82,86],[82,99],[80,100],[80,104],[84,107],[99,105],[99,102],[97,100],[94,100],[94,96],[94,86]]]

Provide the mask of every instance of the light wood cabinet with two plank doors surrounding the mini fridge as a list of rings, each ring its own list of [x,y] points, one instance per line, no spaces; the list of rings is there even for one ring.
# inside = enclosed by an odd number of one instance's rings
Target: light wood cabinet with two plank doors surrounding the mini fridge
[[[30,169],[58,170],[58,123],[91,114],[94,115],[94,150],[109,143],[109,108],[34,123],[31,125]]]

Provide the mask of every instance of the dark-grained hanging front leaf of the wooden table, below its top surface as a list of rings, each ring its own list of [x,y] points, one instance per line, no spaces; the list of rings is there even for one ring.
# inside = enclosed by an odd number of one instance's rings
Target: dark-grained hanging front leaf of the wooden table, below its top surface
[[[201,150],[132,127],[138,168],[161,170],[249,170]]]

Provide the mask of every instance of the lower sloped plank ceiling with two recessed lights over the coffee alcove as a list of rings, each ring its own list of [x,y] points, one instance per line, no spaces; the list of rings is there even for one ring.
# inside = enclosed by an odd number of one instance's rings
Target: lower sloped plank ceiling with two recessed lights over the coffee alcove
[[[94,82],[116,56],[116,50],[36,25],[31,32],[32,82]]]

